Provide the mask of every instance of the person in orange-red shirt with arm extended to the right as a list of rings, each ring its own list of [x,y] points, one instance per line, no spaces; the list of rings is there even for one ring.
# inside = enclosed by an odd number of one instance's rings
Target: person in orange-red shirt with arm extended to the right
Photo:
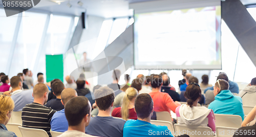
[[[170,110],[172,110],[175,112],[175,109],[181,104],[178,101],[174,102],[167,93],[161,92],[161,86],[163,85],[162,81],[160,75],[152,75],[151,77],[152,92],[150,93],[150,96],[155,102],[155,111],[167,111],[170,113]]]

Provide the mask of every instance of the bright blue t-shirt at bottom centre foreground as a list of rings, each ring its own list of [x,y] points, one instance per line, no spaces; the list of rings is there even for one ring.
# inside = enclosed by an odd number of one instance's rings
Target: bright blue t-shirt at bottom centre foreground
[[[157,126],[141,120],[126,121],[123,137],[128,136],[173,136],[166,126]]]

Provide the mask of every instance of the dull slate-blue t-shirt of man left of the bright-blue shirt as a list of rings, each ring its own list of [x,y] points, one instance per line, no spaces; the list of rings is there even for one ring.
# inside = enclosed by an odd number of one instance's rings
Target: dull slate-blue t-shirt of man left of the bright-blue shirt
[[[93,117],[86,127],[86,133],[104,137],[122,137],[125,120],[113,117]]]

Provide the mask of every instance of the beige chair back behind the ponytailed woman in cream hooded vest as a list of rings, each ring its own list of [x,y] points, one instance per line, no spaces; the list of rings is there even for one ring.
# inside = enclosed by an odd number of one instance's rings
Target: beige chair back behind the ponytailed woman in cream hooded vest
[[[190,137],[214,137],[215,135],[215,132],[212,131],[209,127],[174,124],[174,129],[177,136],[181,134],[187,134]]]

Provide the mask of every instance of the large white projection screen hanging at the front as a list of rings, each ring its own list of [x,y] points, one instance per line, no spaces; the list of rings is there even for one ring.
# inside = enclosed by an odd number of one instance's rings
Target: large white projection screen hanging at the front
[[[134,9],[135,69],[221,70],[220,1],[166,9]]]

